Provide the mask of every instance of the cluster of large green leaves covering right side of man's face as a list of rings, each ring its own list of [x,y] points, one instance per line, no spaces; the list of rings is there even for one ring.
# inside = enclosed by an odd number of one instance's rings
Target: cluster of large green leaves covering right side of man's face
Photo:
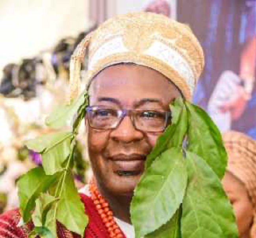
[[[147,157],[130,207],[135,237],[237,238],[220,179],[226,168],[221,134],[196,105],[177,98],[172,120]]]

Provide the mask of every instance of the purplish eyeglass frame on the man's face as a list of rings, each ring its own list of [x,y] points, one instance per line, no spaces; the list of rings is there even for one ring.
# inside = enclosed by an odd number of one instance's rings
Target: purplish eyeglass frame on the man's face
[[[95,108],[95,107],[97,107],[97,108],[105,108],[105,107],[100,107],[100,106],[96,106],[96,105],[94,105],[94,106],[87,106],[87,107],[85,108],[85,115],[86,115],[86,113],[90,113],[90,112],[92,111],[92,109]],[[106,109],[111,109],[111,108],[106,108]],[[116,128],[121,124],[122,120],[123,120],[126,116],[129,116],[130,119],[131,119],[132,125],[134,126],[134,128],[135,128],[136,130],[144,131],[144,132],[149,132],[149,133],[150,133],[150,132],[152,132],[152,133],[153,133],[153,132],[163,132],[163,131],[165,130],[165,128],[167,127],[167,125],[168,125],[169,119],[171,118],[171,111],[163,111],[163,112],[161,112],[161,113],[165,113],[165,125],[163,126],[163,129],[161,129],[161,130],[159,130],[159,131],[146,131],[146,130],[142,130],[142,129],[137,128],[137,126],[135,125],[135,119],[134,119],[133,112],[134,112],[134,111],[156,111],[156,110],[154,110],[154,109],[148,109],[148,110],[113,109],[113,110],[117,111],[117,114],[119,115],[119,117],[118,117],[118,118],[119,118],[119,121],[118,121],[118,123],[117,123],[115,126],[110,127],[110,128],[97,128],[97,127],[93,127],[93,126],[91,125],[91,123],[90,123],[89,118],[88,118],[88,122],[89,122],[90,127],[94,128],[94,129],[98,129],[98,130],[116,129]],[[121,113],[121,114],[120,114],[120,113]]]

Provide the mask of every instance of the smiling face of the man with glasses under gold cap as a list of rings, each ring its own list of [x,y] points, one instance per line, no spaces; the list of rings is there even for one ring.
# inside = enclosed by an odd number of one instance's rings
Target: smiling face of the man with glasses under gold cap
[[[115,65],[95,77],[90,105],[110,109],[169,111],[180,96],[159,72],[138,65]],[[161,132],[136,129],[126,116],[115,129],[88,127],[88,148],[98,185],[115,195],[132,196],[145,159]]]

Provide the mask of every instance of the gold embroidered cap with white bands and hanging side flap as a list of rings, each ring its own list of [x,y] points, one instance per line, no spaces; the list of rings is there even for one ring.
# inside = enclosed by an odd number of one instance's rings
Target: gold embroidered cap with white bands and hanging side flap
[[[80,90],[80,66],[87,47],[87,85],[104,68],[129,62],[157,70],[190,100],[204,66],[202,48],[187,25],[154,13],[119,15],[87,35],[76,48],[70,62],[70,100]]]

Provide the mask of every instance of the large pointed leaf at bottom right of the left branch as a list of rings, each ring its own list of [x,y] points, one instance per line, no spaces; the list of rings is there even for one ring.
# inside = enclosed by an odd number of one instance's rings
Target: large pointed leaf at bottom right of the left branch
[[[67,229],[83,236],[88,218],[85,215],[83,203],[80,200],[70,172],[65,177],[56,218]]]

